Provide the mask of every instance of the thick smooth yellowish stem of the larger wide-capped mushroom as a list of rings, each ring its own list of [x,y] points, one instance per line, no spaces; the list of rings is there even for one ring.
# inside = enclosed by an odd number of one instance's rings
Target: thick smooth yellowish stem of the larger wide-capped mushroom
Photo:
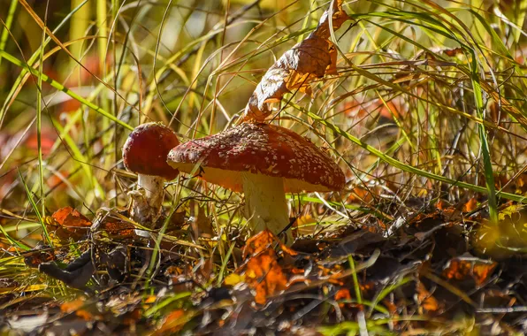
[[[289,224],[284,181],[263,174],[242,173],[245,214],[253,232],[269,229],[279,234]],[[286,244],[293,243],[291,229],[286,231]]]

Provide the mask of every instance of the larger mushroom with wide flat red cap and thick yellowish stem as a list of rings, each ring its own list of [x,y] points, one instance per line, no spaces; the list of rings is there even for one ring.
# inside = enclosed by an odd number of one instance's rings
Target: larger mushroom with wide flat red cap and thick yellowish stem
[[[345,184],[344,173],[324,151],[284,127],[268,124],[245,123],[187,141],[171,150],[168,164],[187,173],[200,165],[201,179],[243,191],[253,232],[284,230],[289,223],[286,192],[327,192]],[[286,242],[293,242],[290,230]]]

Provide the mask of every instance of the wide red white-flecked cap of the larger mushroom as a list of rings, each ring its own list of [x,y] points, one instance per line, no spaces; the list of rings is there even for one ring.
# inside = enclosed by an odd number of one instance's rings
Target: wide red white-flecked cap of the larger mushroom
[[[242,172],[284,179],[286,192],[340,190],[340,167],[311,141],[280,126],[241,124],[219,134],[187,141],[171,150],[168,164],[181,172],[201,165],[201,178],[243,190]]]

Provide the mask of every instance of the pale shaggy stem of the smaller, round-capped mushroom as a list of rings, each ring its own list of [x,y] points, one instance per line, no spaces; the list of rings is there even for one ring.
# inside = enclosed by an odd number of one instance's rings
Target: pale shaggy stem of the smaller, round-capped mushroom
[[[134,221],[151,227],[155,225],[163,204],[163,182],[164,178],[158,176],[138,174],[138,190],[130,193],[134,199],[132,207]],[[144,235],[144,233],[140,235]]]

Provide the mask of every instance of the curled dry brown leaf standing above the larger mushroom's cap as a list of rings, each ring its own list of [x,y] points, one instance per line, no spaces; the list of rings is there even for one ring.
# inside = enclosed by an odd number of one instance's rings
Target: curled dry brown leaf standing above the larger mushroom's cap
[[[326,73],[336,73],[337,50],[329,40],[330,13],[334,30],[349,19],[342,10],[342,1],[334,1],[332,11],[324,12],[315,31],[287,50],[264,74],[249,98],[242,118],[244,121],[264,121],[271,114],[270,103],[278,103],[286,93],[295,90],[310,95],[313,80],[324,77]]]

